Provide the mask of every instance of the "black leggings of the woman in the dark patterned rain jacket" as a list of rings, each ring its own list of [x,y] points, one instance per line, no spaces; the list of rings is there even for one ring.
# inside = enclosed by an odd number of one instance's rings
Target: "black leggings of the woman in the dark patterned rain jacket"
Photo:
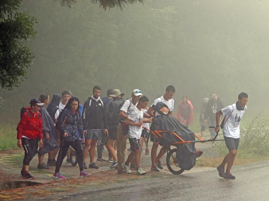
[[[59,154],[57,157],[55,173],[58,173],[60,171],[60,167],[62,165],[64,157],[66,156],[66,153],[68,151],[69,146],[72,146],[73,149],[75,149],[75,151],[77,153],[77,163],[79,164],[79,171],[83,171],[83,154],[82,154],[80,140],[77,139],[75,142],[62,140],[61,146],[60,146],[60,151],[59,151]]]

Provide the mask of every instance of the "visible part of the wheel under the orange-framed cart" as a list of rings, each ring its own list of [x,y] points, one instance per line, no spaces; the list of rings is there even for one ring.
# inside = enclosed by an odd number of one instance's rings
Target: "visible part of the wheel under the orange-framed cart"
[[[182,172],[184,172],[184,169],[181,169],[178,165],[176,148],[167,153],[166,165],[169,171],[174,175],[180,175]]]

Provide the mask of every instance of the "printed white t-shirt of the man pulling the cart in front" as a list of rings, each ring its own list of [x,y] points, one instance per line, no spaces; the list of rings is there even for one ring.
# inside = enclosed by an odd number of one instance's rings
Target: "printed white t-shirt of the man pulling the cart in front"
[[[237,110],[236,109],[236,104],[232,104],[230,106],[227,106],[223,108],[222,114],[226,115],[225,117],[225,123],[223,126],[223,135],[225,137],[231,137],[231,138],[239,138],[240,136],[240,120],[243,117],[243,114],[245,110],[247,109],[247,106],[245,106],[244,110]],[[229,117],[230,115],[230,117]],[[229,117],[229,118],[228,118]],[[228,118],[228,119],[227,119]]]

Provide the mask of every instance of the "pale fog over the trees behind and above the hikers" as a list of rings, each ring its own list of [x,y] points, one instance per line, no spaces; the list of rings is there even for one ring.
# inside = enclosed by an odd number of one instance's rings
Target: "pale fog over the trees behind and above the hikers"
[[[249,115],[268,111],[269,1],[147,0],[103,11],[90,1],[70,9],[27,0],[20,11],[39,22],[26,42],[35,60],[19,88],[0,90],[1,121],[17,121],[41,93],[70,90],[84,103],[94,85],[101,96],[140,89],[150,103],[173,85],[175,103],[186,95],[197,113],[210,94],[229,105],[246,92]]]

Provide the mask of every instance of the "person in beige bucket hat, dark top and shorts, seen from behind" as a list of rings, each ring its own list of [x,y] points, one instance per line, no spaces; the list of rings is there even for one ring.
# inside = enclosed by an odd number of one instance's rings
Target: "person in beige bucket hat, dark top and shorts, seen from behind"
[[[117,140],[117,129],[120,120],[119,116],[119,107],[121,103],[124,101],[123,96],[124,93],[121,93],[119,89],[114,89],[112,91],[112,99],[113,101],[110,103],[108,107],[108,116],[107,116],[107,123],[108,123],[108,140],[106,142],[106,148],[109,154],[113,157],[114,162],[110,166],[110,168],[116,168],[118,166],[118,158],[116,151],[113,147],[113,143]]]

